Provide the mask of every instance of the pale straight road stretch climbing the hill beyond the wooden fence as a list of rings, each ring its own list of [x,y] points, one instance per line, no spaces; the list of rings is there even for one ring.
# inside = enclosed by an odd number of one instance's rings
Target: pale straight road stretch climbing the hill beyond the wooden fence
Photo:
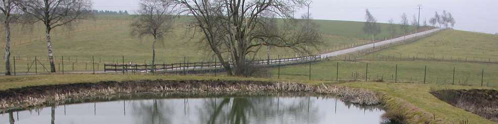
[[[387,45],[389,43],[402,42],[405,39],[415,38],[418,36],[425,36],[427,34],[430,34],[430,33],[433,33],[433,32],[439,31],[439,30],[442,30],[442,29],[440,29],[440,28],[432,29],[432,30],[428,30],[428,31],[420,32],[420,33],[415,33],[415,34],[410,34],[410,35],[406,35],[406,36],[402,36],[402,37],[398,37],[398,38],[394,38],[394,39],[390,39],[390,40],[384,40],[384,41],[380,41],[380,42],[376,42],[376,43],[370,43],[370,44],[357,46],[357,47],[353,47],[353,48],[348,48],[348,49],[343,49],[343,50],[334,51],[334,52],[330,52],[330,53],[320,54],[320,56],[322,58],[331,57],[331,56],[338,56],[338,55],[356,52],[356,51],[360,51],[360,50],[364,50],[364,49],[368,49],[368,48],[373,48],[374,46],[383,46],[383,45]]]

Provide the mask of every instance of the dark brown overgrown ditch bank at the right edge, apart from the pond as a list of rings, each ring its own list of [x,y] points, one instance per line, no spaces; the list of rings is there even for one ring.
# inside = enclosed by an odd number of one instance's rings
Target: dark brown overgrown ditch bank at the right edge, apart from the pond
[[[498,122],[497,90],[439,90],[431,93],[455,107],[462,108],[489,120]]]

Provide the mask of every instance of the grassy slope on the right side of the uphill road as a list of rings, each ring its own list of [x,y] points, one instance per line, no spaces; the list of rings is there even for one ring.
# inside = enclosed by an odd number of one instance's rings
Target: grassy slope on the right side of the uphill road
[[[436,57],[437,59],[459,59],[468,61],[498,61],[498,35],[444,30],[420,41],[391,47],[363,58],[372,56],[393,56],[418,58]]]

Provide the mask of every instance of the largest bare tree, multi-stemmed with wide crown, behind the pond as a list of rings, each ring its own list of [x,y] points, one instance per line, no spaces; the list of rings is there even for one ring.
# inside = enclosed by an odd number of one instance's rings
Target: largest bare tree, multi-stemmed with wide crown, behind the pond
[[[221,61],[228,75],[249,75],[251,55],[262,46],[291,48],[310,53],[306,46],[316,46],[321,34],[309,21],[295,20],[295,12],[307,0],[163,0],[179,5],[184,14],[195,18],[203,33],[203,43]],[[268,26],[268,15],[274,14],[283,24]],[[233,66],[227,61],[232,58]]]

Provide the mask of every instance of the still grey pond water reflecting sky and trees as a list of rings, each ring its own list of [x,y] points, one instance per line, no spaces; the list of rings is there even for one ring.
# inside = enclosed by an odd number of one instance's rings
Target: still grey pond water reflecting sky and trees
[[[3,113],[0,123],[379,123],[383,113],[319,96],[144,98]]]

